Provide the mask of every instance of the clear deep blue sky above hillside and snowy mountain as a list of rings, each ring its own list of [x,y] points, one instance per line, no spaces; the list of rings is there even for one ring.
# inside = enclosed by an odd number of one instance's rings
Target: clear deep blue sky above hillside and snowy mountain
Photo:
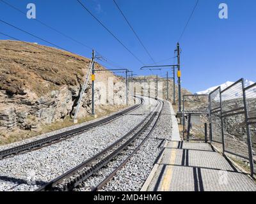
[[[4,0],[26,12],[36,4],[36,18],[47,25],[95,48],[118,65],[139,75],[136,61],[104,30],[76,0]],[[82,0],[113,33],[145,64],[152,64],[147,53],[116,9],[112,0]],[[173,50],[196,0],[116,0],[155,61],[173,57]],[[228,4],[228,19],[218,18],[218,5]],[[47,29],[35,20],[0,1],[0,19],[86,57],[91,50]],[[182,86],[192,92],[236,81],[241,77],[256,82],[256,1],[200,0],[180,41]],[[20,40],[47,45],[28,34],[0,22],[0,30]],[[0,39],[8,39],[0,34]],[[173,63],[173,59],[161,64]],[[104,63],[102,63],[104,64]],[[118,68],[109,66],[108,68]],[[165,71],[155,71],[164,75]]]

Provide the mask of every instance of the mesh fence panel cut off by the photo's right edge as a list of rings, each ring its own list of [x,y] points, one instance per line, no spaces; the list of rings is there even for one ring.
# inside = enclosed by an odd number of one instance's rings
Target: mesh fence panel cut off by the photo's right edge
[[[250,137],[252,141],[252,156],[253,161],[256,161],[256,84],[245,89],[246,107],[248,113],[248,124]],[[256,164],[254,164],[254,173],[256,173]]]

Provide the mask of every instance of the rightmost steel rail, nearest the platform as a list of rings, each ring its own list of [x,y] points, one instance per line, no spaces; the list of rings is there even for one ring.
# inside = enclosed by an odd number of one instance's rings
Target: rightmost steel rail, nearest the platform
[[[138,145],[138,147],[136,147],[136,149],[117,167],[115,168],[114,171],[112,171],[111,174],[108,175],[108,177],[106,177],[102,182],[100,182],[100,184],[96,187],[94,187],[92,189],[92,191],[99,191],[100,189],[102,189],[102,187],[104,187],[111,179],[113,179],[113,177],[115,177],[117,171],[119,171],[121,168],[123,168],[125,166],[125,164],[131,159],[132,156],[134,156],[134,154],[136,152],[138,152],[138,150],[140,150],[141,146],[147,141],[148,137],[152,134],[152,132],[154,131],[154,128],[156,127],[157,122],[159,121],[159,117],[162,114],[162,110],[163,110],[163,105],[164,102],[162,102],[162,106],[161,106],[161,110],[157,116],[156,121],[154,122],[154,125],[152,126],[152,128],[150,129],[150,132],[147,134],[147,136],[145,136],[145,138],[142,140],[142,142],[140,143],[140,145]]]

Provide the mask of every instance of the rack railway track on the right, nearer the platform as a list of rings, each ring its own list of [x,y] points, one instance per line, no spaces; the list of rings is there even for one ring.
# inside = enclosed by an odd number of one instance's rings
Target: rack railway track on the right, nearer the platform
[[[145,119],[143,119],[135,128],[129,131],[129,133],[122,136],[122,138],[112,143],[98,154],[95,154],[95,156],[84,161],[75,168],[72,168],[72,170],[63,173],[60,177],[51,180],[51,182],[48,182],[36,191],[73,191],[80,186],[83,186],[83,183],[86,182],[86,180],[93,177],[93,175],[103,167],[108,168],[106,166],[108,166],[111,161],[124,154],[125,150],[128,150],[129,155],[122,159],[122,162],[120,162],[109,175],[106,175],[100,184],[90,187],[91,191],[98,191],[115,176],[115,173],[129,161],[147,140],[148,136],[151,135],[159,116],[161,115],[162,108],[163,101],[157,100],[157,105],[154,111],[150,112],[147,117],[145,117]],[[132,147],[132,149],[129,147]]]

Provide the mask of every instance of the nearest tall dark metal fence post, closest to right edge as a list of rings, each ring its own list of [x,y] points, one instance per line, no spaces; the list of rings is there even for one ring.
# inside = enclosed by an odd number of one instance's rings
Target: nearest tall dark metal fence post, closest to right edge
[[[251,138],[250,128],[248,124],[248,110],[247,110],[247,104],[246,104],[246,94],[244,90],[244,79],[242,80],[242,86],[243,86],[244,116],[245,116],[246,132],[247,132],[248,154],[249,154],[251,176],[253,177],[254,164],[253,164],[253,154],[252,154],[252,138]]]

